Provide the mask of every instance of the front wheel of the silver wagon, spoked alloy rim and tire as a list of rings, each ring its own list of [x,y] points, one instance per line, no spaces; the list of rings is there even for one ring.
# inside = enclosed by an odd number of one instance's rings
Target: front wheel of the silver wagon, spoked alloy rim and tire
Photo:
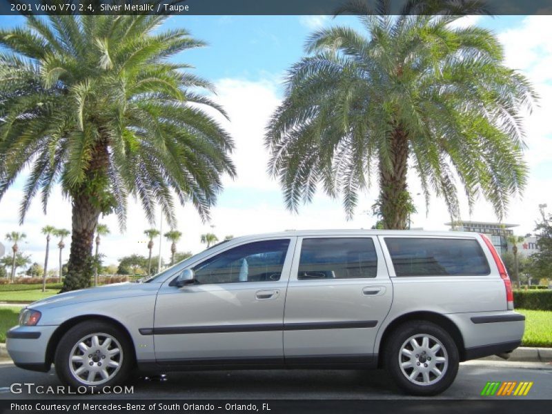
[[[102,321],[81,322],[61,338],[55,353],[56,373],[66,385],[98,387],[123,382],[133,364],[130,341]]]

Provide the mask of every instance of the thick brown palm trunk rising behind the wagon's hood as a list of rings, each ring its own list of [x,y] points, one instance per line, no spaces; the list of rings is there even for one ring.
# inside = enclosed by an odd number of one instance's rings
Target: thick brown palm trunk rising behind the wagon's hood
[[[90,286],[90,279],[94,273],[92,244],[99,215],[99,208],[90,203],[88,196],[81,195],[73,198],[68,272],[63,279],[61,292]]]

